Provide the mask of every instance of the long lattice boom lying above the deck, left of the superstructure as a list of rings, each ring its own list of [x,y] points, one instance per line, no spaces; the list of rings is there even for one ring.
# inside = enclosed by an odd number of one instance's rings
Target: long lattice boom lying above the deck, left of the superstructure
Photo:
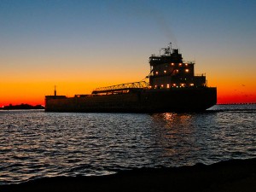
[[[127,84],[116,84],[107,87],[96,88],[92,93],[111,91],[111,90],[129,90],[129,89],[145,89],[148,88],[149,84],[146,81],[139,81]]]

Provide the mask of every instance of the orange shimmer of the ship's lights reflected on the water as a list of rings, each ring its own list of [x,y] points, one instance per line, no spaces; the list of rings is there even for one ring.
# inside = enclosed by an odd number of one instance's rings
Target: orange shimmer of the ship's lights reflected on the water
[[[153,114],[156,141],[164,148],[163,156],[174,159],[185,159],[191,153],[191,146],[196,145],[195,127],[191,125],[193,116],[189,113],[158,113]],[[181,145],[181,143],[188,143]]]

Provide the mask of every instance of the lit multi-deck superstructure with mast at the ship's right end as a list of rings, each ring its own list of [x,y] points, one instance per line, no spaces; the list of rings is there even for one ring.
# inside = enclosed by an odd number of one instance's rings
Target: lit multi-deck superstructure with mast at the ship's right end
[[[164,54],[149,57],[150,89],[170,89],[207,86],[206,76],[195,76],[194,62],[183,62],[178,49],[169,45],[164,48]]]

